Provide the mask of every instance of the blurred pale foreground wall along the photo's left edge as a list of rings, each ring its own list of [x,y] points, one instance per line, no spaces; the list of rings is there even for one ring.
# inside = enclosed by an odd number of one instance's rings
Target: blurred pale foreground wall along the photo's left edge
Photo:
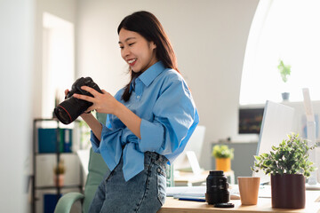
[[[0,1],[0,211],[28,212],[25,172],[32,127],[32,0]]]

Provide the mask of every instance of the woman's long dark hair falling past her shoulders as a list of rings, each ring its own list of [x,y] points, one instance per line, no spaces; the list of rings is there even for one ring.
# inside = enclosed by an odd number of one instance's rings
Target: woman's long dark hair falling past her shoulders
[[[118,35],[122,28],[139,33],[148,42],[154,42],[156,44],[156,59],[161,60],[164,63],[164,67],[172,68],[179,72],[172,44],[164,32],[163,26],[154,14],[145,11],[133,12],[121,21],[117,28]],[[141,72],[132,72],[131,69],[129,69],[129,72],[131,72],[131,80],[124,88],[122,96],[124,101],[130,99],[131,93],[129,91],[132,80],[141,74]]]

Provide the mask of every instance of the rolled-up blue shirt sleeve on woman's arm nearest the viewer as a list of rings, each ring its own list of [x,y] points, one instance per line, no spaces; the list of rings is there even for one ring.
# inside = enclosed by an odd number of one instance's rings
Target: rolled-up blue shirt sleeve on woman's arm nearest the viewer
[[[192,134],[190,128],[197,120],[196,106],[186,83],[178,79],[165,86],[153,114],[154,121],[141,121],[140,150],[172,154],[180,146],[183,149],[188,135]]]

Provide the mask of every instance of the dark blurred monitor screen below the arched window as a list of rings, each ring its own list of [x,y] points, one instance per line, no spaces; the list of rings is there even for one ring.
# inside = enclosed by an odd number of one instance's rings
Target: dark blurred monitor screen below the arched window
[[[264,107],[239,108],[239,134],[259,134]]]

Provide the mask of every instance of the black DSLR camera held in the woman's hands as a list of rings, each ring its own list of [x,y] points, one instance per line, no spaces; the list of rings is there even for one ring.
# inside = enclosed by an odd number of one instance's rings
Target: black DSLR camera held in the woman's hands
[[[89,106],[92,106],[92,102],[76,99],[72,96],[76,93],[93,97],[90,92],[82,90],[82,86],[91,87],[102,93],[99,86],[92,81],[91,77],[81,77],[77,79],[76,82],[72,84],[71,91],[68,92],[66,99],[54,108],[54,114],[60,122],[69,124],[70,122],[75,121],[80,114],[83,114]]]

